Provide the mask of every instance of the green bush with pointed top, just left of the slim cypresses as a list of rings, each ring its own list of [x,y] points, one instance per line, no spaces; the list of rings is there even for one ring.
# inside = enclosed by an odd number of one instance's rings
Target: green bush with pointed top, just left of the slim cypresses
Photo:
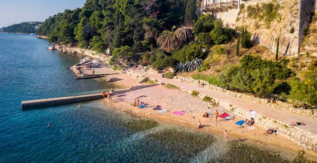
[[[231,41],[234,35],[234,30],[231,28],[223,28],[222,21],[217,20],[214,23],[214,28],[210,32],[211,39],[214,44],[226,44]]]

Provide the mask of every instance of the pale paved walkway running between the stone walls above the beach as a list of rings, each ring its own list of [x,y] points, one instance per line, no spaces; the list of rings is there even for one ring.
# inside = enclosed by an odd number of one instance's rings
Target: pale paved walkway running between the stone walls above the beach
[[[133,71],[133,70],[130,70],[130,71]],[[317,120],[315,120],[313,118],[305,117],[305,116],[301,116],[301,115],[297,115],[297,114],[292,114],[292,113],[287,112],[285,110],[277,109],[277,108],[267,106],[267,105],[256,104],[256,103],[249,102],[249,101],[246,101],[246,100],[241,99],[241,98],[227,95],[227,94],[222,93],[222,92],[213,91],[213,90],[210,90],[208,88],[200,88],[199,86],[194,85],[194,84],[183,83],[183,82],[176,80],[176,79],[162,78],[161,75],[159,75],[159,74],[151,74],[151,73],[139,71],[139,70],[135,70],[135,73],[138,73],[139,75],[144,75],[144,76],[156,79],[156,80],[160,80],[160,81],[163,81],[166,83],[170,83],[170,84],[179,86],[181,88],[185,88],[187,90],[198,91],[201,94],[216,98],[216,99],[221,100],[221,101],[228,102],[232,105],[238,106],[240,108],[244,108],[245,110],[251,110],[251,109],[256,110],[258,113],[260,113],[262,115],[274,118],[274,119],[279,120],[279,121],[283,121],[286,124],[289,124],[291,121],[303,122],[306,124],[305,126],[297,126],[297,127],[317,134]]]

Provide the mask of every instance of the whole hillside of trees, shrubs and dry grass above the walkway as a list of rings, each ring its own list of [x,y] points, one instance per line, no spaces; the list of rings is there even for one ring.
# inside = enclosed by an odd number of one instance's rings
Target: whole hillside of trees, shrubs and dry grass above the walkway
[[[317,104],[313,57],[286,58],[278,50],[272,53],[253,41],[249,27],[225,27],[212,15],[198,15],[195,3],[88,0],[82,9],[48,18],[37,33],[48,36],[50,42],[99,53],[110,48],[109,64],[116,69],[130,64],[156,70],[173,68],[176,74],[234,91],[296,105]],[[249,13],[261,20],[261,26],[270,28],[284,18],[278,12],[281,8],[274,3],[242,10],[247,10],[243,15]],[[279,39],[274,44],[278,47]],[[172,78],[175,73],[166,75]]]

